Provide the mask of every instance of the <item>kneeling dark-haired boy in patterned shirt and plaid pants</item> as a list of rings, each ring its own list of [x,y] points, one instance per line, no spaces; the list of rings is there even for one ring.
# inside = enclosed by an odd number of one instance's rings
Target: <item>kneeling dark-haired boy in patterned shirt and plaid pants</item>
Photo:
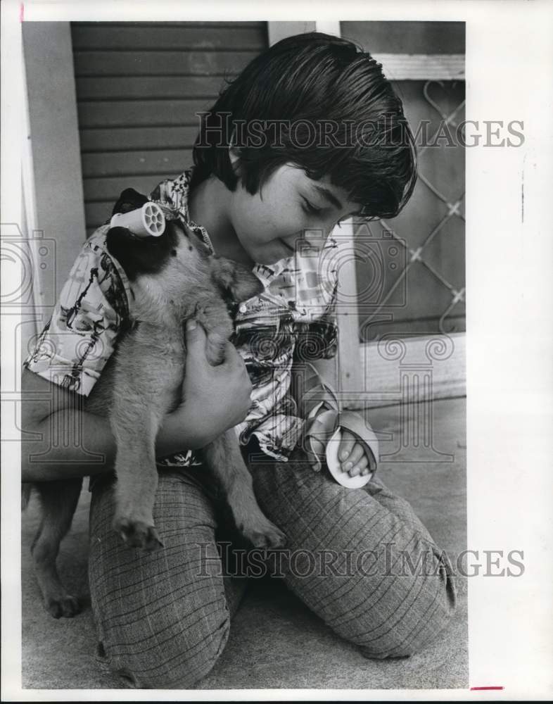
[[[25,430],[43,434],[50,462],[36,461],[40,443],[24,444],[23,479],[83,476],[90,467],[101,474],[92,486],[89,556],[98,652],[140,687],[189,688],[215,664],[244,580],[222,577],[217,513],[196,450],[238,425],[262,510],[288,550],[315,565],[293,569],[285,560],[288,588],[367,657],[414,653],[454,608],[450,566],[409,504],[377,477],[345,490],[314,471],[329,430],[321,412],[335,405],[310,371],[311,361],[336,351],[336,272],[318,267],[336,245],[333,227],[351,215],[393,217],[414,187],[400,100],[379,64],[350,42],[289,37],[255,58],[204,115],[194,163],[151,199],[212,251],[251,266],[265,291],[237,311],[238,352],[229,346],[220,367],[205,361],[201,327],[186,329],[182,405],[157,439],[163,550],[144,555],[112,531],[114,440],[108,422],[87,413],[132,295],[104,249],[106,227],[84,245],[25,362],[24,389],[55,382],[58,390],[53,408],[24,404]],[[82,446],[104,455],[101,467],[72,461],[71,439],[65,448],[55,441],[60,422],[81,428]],[[376,469],[362,430],[344,429],[339,458],[352,476]],[[405,553],[412,564],[430,555],[430,568],[398,576],[390,567]],[[329,555],[333,569],[324,570]]]

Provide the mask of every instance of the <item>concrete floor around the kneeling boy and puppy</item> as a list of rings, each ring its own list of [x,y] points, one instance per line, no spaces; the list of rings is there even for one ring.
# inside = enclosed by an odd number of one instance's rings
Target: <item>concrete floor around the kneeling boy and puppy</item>
[[[466,547],[465,400],[433,403],[433,448],[410,442],[382,458],[383,482],[412,504],[433,538],[455,560]],[[410,407],[415,410],[417,407]],[[381,455],[400,448],[400,408],[374,409],[371,425],[388,434]],[[439,453],[446,453],[439,454]],[[392,461],[395,460],[395,461]],[[36,505],[23,515],[23,687],[121,689],[95,658],[87,597],[87,512],[82,492],[59,567],[84,611],[53,620],[42,608],[30,564]],[[276,580],[253,580],[232,622],[229,642],[198,689],[452,689],[468,686],[466,582],[457,579],[458,610],[450,627],[424,652],[400,660],[367,660],[335,636]]]

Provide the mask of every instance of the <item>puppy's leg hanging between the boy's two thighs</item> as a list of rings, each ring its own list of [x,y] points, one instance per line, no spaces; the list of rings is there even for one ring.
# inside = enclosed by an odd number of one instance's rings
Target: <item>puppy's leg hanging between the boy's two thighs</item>
[[[234,430],[204,448],[205,459],[231,509],[236,527],[255,548],[280,548],[286,536],[262,513]]]

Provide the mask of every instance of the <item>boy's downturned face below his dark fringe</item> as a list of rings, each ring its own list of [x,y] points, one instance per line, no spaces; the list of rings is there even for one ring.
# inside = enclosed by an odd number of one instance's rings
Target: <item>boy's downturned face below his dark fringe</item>
[[[250,258],[274,264],[293,256],[300,239],[326,238],[338,220],[360,210],[328,178],[314,181],[303,169],[285,164],[273,172],[255,195],[239,183],[229,202],[229,219]],[[317,231],[305,234],[305,230]]]

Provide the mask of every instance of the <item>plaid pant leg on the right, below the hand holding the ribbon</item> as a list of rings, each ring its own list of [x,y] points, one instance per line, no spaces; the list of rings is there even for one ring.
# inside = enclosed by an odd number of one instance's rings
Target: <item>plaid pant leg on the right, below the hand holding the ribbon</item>
[[[300,449],[251,470],[261,508],[288,538],[288,588],[338,635],[388,658],[416,653],[445,627],[451,566],[407,501],[376,478],[345,489]]]

